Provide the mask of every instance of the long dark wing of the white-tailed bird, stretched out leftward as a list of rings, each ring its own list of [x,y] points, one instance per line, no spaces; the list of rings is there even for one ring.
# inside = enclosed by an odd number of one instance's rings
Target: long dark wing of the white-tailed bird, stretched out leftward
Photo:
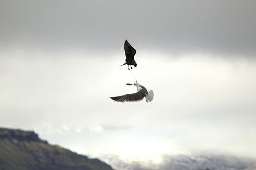
[[[138,102],[138,101],[142,101],[145,96],[146,96],[145,91],[140,90],[137,93],[125,94],[122,96],[116,96],[116,97],[110,97],[110,98],[116,102]]]

